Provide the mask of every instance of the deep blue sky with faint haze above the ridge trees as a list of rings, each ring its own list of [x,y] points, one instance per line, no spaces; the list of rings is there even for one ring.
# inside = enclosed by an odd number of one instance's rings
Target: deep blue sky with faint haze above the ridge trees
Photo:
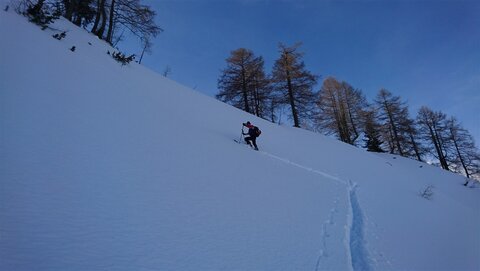
[[[144,0],[165,30],[143,64],[209,96],[230,51],[265,59],[278,43],[303,42],[306,68],[361,89],[382,87],[408,101],[456,116],[480,144],[480,1]],[[122,49],[139,52],[136,43]]]

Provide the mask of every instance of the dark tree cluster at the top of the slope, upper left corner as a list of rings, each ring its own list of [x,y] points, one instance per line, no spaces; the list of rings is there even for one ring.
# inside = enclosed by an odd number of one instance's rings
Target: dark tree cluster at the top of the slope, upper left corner
[[[140,0],[19,0],[17,11],[61,15],[111,45],[128,30],[139,38],[144,52],[163,31],[154,21],[155,11]]]

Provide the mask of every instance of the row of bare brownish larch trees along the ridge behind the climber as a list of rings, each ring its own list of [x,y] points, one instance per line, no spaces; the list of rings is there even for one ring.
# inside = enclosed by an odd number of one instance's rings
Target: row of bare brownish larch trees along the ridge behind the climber
[[[480,177],[480,152],[471,134],[455,117],[426,106],[416,117],[400,96],[380,89],[369,102],[360,89],[305,67],[300,43],[279,44],[270,74],[264,60],[239,48],[226,59],[216,98],[258,117],[277,122],[287,109],[294,127],[332,135],[372,152],[389,152],[418,161],[435,160],[445,169]]]

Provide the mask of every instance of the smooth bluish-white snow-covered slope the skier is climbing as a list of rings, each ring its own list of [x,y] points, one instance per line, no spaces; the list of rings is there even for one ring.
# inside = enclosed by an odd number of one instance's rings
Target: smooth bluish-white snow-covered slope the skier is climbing
[[[0,11],[0,270],[480,269],[460,176],[254,118],[53,27]],[[233,141],[247,120],[259,152]]]

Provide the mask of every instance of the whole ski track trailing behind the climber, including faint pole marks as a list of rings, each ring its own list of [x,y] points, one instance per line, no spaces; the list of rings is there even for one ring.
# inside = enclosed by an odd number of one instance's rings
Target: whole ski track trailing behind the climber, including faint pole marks
[[[347,189],[347,197],[348,197],[348,203],[349,203],[349,215],[347,218],[347,224],[345,226],[346,228],[345,249],[347,251],[346,253],[350,261],[350,267],[352,270],[366,270],[366,271],[373,270],[371,263],[375,262],[375,259],[371,258],[370,253],[366,247],[365,236],[364,236],[364,232],[365,232],[364,215],[363,215],[363,210],[358,202],[358,197],[356,193],[357,184],[353,183],[352,181],[347,182],[337,176],[328,174],[326,172],[300,165],[298,163],[295,163],[283,157],[279,157],[264,151],[260,151],[260,153],[270,158],[289,164],[291,166],[295,166],[295,167],[310,171],[312,173],[321,175],[327,179],[330,179],[337,183],[341,183],[345,185]],[[322,244],[321,244],[319,256],[317,258],[317,263],[315,265],[315,270],[319,269],[322,258],[328,257],[328,248],[327,248],[327,238],[329,237],[328,226],[335,224],[333,219],[334,219],[334,214],[337,212],[338,202],[339,202],[339,199],[336,198],[333,203],[334,207],[330,211],[329,218],[322,224],[322,230],[321,230]]]

